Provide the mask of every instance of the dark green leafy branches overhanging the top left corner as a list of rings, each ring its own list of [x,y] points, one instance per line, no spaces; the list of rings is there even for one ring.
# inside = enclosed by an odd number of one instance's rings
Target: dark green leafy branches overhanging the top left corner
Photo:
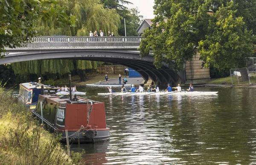
[[[35,22],[45,24],[52,18],[54,28],[75,26],[75,17],[68,17],[55,0],[0,0],[0,53],[29,42],[36,34]]]

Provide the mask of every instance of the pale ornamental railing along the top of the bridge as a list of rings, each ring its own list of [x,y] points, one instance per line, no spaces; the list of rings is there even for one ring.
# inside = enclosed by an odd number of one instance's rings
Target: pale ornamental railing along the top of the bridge
[[[143,37],[133,36],[38,36],[31,39],[32,43],[140,43]]]

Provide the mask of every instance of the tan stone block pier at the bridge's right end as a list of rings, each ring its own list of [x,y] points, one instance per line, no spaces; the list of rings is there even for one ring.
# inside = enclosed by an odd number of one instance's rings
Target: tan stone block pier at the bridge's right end
[[[199,60],[200,53],[196,53],[191,61],[186,62],[186,82],[185,85],[206,84],[210,78],[209,68],[202,68],[202,60]]]

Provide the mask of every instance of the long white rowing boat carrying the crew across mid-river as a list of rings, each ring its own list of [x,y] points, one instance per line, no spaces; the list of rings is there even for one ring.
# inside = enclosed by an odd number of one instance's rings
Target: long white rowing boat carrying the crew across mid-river
[[[116,92],[116,93],[98,93],[98,95],[216,95],[218,92]]]

